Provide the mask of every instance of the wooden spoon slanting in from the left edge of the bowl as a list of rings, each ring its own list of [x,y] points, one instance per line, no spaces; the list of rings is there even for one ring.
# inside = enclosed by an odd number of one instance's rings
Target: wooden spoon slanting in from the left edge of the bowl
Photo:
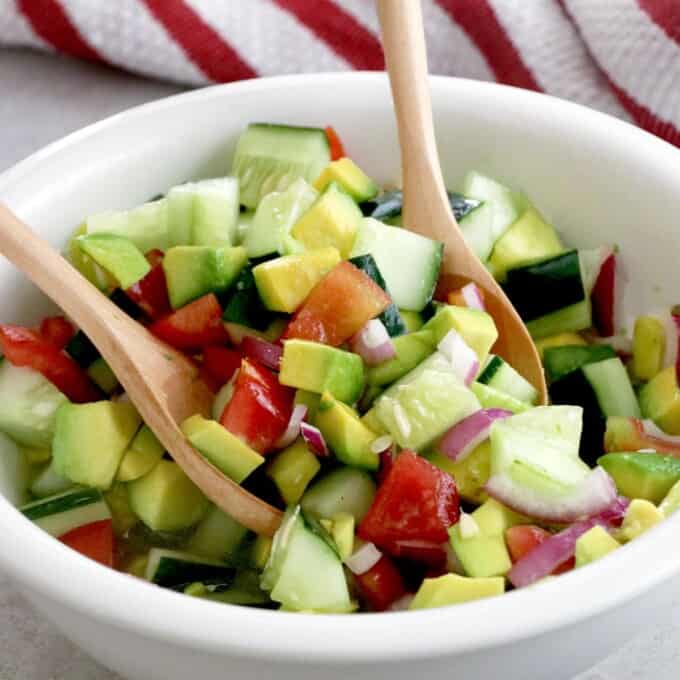
[[[0,252],[83,329],[144,422],[203,493],[244,526],[272,536],[281,512],[208,463],[177,426],[210,412],[213,395],[196,366],[116,307],[1,203]]]

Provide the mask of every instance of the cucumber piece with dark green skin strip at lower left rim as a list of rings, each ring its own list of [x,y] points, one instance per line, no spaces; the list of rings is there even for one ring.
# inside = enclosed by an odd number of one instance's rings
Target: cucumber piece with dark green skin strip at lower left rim
[[[43,498],[20,508],[27,519],[52,536],[111,519],[109,506],[98,489],[75,489]]]

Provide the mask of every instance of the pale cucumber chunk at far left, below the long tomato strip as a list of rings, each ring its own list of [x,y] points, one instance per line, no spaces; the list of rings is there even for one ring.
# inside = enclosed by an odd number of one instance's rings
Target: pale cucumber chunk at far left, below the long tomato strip
[[[0,361],[0,430],[24,446],[50,448],[68,399],[42,374]]]

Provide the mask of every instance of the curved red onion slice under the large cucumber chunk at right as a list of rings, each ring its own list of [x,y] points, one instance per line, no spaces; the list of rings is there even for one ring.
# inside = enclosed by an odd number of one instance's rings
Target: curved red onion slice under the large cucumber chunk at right
[[[601,467],[591,470],[569,493],[551,498],[533,493],[502,472],[492,475],[484,488],[516,512],[558,524],[593,517],[616,500],[616,485]]]

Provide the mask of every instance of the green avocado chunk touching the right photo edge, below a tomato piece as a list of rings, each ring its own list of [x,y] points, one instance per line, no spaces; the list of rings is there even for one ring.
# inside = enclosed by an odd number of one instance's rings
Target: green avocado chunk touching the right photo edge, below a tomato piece
[[[598,458],[619,493],[660,503],[680,480],[680,458],[660,453],[607,453]]]

